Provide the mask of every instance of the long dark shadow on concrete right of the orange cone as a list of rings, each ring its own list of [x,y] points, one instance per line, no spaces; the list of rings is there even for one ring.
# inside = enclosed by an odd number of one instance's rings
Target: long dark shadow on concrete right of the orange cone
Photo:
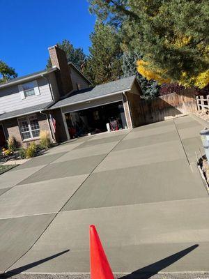
[[[167,266],[170,266],[174,262],[177,262],[178,259],[185,257],[189,252],[196,249],[199,245],[195,244],[186,248],[185,250],[181,250],[176,254],[173,254],[169,257],[165,257],[164,259],[160,259],[158,262],[154,262],[153,264],[149,264],[148,266],[144,266],[142,269],[138,269],[137,271],[133,271],[131,274],[127,276],[121,277],[121,279],[148,279],[155,274],[157,274],[162,269],[165,269]]]

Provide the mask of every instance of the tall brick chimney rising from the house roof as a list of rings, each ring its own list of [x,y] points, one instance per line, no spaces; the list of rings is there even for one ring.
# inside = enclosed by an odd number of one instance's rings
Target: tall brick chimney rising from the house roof
[[[66,54],[58,45],[49,47],[48,50],[52,61],[52,67],[56,66],[58,68],[56,71],[56,79],[60,94],[61,96],[65,96],[65,94],[73,89]]]

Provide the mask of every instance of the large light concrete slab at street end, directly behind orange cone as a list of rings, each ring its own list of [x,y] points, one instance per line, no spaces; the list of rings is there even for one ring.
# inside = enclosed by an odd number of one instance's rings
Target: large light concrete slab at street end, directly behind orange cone
[[[28,272],[88,272],[88,227],[95,224],[111,267],[131,272],[198,244],[164,271],[208,271],[208,197],[59,213],[47,232],[11,269],[63,250]]]

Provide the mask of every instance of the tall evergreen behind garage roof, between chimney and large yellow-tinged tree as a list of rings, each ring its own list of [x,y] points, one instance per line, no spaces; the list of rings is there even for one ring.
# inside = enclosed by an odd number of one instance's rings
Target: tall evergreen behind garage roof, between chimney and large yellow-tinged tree
[[[121,47],[114,28],[100,22],[95,23],[91,33],[89,57],[83,68],[84,74],[93,84],[102,84],[117,80],[122,72]]]

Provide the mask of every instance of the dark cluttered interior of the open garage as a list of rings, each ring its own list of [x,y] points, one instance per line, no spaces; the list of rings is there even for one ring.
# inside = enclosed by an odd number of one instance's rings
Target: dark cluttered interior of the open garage
[[[65,119],[70,139],[103,133],[108,130],[107,123],[109,123],[110,130],[113,130],[111,123],[114,121],[117,122],[116,130],[127,128],[122,101],[68,112],[65,113]]]

